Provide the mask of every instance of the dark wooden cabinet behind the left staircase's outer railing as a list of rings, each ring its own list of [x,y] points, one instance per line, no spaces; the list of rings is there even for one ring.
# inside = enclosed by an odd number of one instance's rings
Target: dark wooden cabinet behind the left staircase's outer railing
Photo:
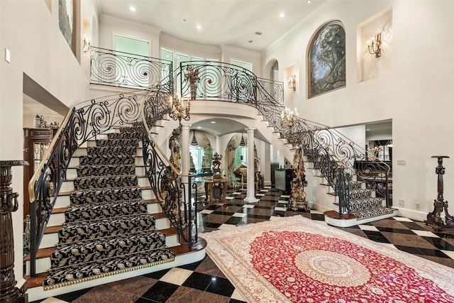
[[[23,160],[29,164],[23,167],[23,219],[30,214],[28,182],[47,153],[54,132],[51,128],[23,128]]]

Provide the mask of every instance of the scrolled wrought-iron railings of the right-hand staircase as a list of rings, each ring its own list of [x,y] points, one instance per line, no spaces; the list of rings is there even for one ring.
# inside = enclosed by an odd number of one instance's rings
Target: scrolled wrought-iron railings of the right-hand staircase
[[[360,160],[371,158],[372,154],[358,144],[345,137],[342,133],[329,126],[298,118],[289,128],[282,121],[284,106],[277,103],[258,85],[257,108],[269,126],[279,133],[287,142],[298,142],[304,155],[319,169],[339,197],[339,214],[349,213],[350,183],[353,175],[358,181],[365,181],[368,188],[375,189],[380,197],[384,197],[387,206],[389,199],[390,167],[381,160],[368,165],[358,165]],[[371,173],[380,171],[380,173]],[[381,184],[384,184],[382,186]]]

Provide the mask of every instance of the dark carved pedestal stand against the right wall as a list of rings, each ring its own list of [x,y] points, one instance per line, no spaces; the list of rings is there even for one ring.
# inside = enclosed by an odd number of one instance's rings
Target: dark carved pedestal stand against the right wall
[[[427,215],[426,224],[434,228],[454,228],[454,217],[448,213],[448,201],[443,200],[443,175],[445,174],[445,167],[443,167],[443,158],[449,158],[447,155],[433,155],[432,158],[438,158],[438,166],[435,173],[438,175],[438,197],[433,200],[433,211]],[[441,212],[445,210],[445,221],[441,219]]]

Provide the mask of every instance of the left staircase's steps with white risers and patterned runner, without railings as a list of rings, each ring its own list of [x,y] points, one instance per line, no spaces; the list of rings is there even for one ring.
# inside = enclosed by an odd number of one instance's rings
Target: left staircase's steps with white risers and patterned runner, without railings
[[[141,125],[123,126],[76,151],[38,250],[38,276],[26,285],[32,299],[173,267],[176,256],[203,250],[180,245],[170,228],[144,176],[141,138]]]

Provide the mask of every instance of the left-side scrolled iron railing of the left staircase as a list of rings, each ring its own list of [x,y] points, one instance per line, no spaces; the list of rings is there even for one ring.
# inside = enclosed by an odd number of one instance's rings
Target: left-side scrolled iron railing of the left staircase
[[[30,275],[36,274],[36,254],[66,179],[72,155],[80,145],[111,128],[140,121],[140,90],[81,102],[72,106],[28,183],[31,211]]]

